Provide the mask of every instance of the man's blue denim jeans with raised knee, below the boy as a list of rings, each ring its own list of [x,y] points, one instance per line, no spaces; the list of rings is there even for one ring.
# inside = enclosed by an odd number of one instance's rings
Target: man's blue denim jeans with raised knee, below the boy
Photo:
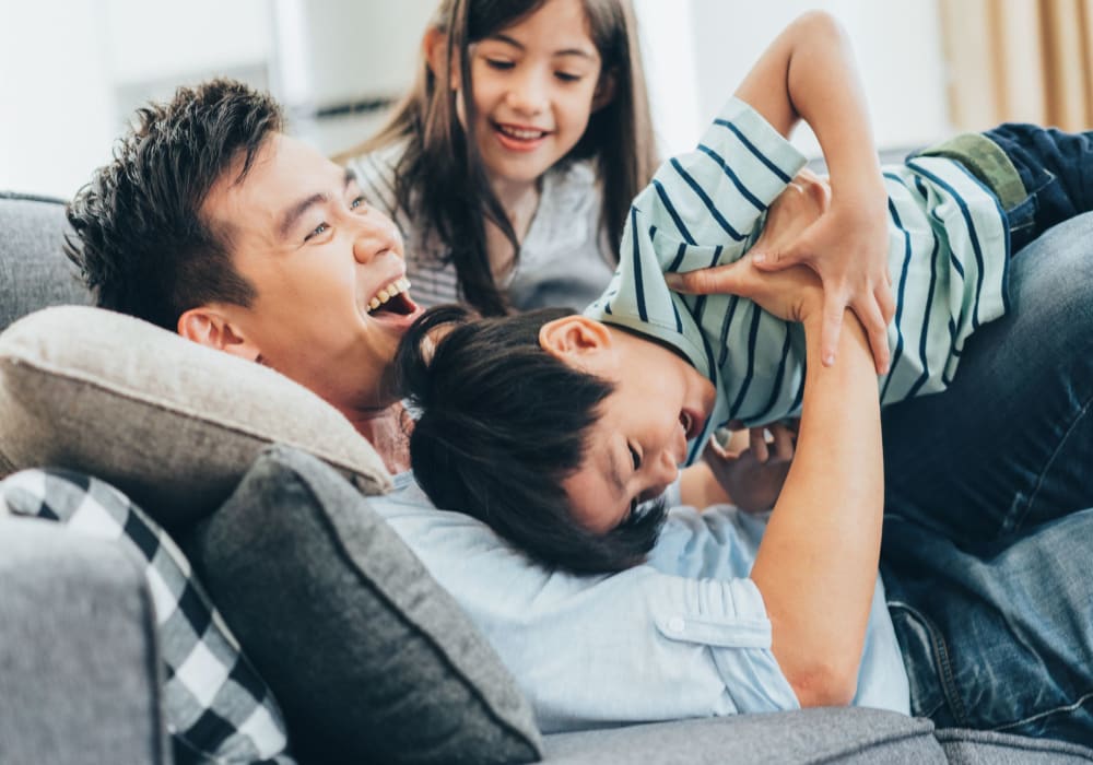
[[[1009,279],[1011,311],[968,340],[951,388],[883,412],[881,570],[915,714],[1088,744],[1093,214]]]

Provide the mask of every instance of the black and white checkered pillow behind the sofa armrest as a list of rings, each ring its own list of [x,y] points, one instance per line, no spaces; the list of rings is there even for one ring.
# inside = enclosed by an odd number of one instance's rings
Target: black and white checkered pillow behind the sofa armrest
[[[175,762],[286,764],[285,726],[266,683],[191,575],[178,546],[119,491],[59,470],[0,482],[0,508],[118,540],[148,562],[166,669],[164,706]]]

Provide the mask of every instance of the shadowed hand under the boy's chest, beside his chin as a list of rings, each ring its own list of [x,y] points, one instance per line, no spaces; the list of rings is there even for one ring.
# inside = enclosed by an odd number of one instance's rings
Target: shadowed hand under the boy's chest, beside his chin
[[[773,442],[766,444],[763,440],[763,451],[768,454],[765,459],[760,459],[753,447],[755,431],[762,429],[753,428],[753,446],[739,454],[725,450],[716,438],[709,439],[703,452],[703,460],[729,495],[729,501],[747,513],[761,513],[774,507],[794,461],[796,434],[781,424],[766,428]]]

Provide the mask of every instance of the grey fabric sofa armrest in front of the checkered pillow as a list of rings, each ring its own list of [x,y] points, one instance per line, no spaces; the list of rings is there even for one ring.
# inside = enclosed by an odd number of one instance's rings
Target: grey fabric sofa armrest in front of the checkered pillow
[[[161,686],[139,564],[0,515],[0,762],[167,763]]]

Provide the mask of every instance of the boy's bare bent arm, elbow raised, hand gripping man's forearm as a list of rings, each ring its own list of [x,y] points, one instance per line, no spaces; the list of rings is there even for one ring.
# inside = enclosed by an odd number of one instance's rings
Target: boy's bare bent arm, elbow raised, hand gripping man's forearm
[[[834,362],[849,306],[869,338],[879,373],[889,364],[895,305],[888,266],[888,196],[849,42],[828,14],[796,20],[771,44],[736,95],[784,136],[811,126],[831,173],[831,210],[790,245],[755,250],[766,270],[811,267],[823,282],[821,357]]]

